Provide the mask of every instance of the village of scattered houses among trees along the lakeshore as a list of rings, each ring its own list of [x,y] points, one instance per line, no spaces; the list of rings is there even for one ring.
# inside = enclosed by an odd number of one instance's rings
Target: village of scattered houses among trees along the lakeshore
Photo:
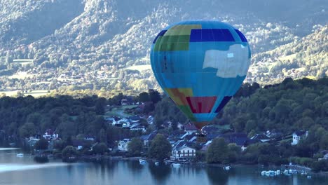
[[[308,131],[304,130],[298,130],[290,133],[289,135],[282,135],[281,132],[267,130],[266,132],[257,133],[252,137],[248,137],[245,132],[233,132],[228,125],[224,125],[223,127],[222,125],[206,125],[201,130],[201,133],[205,135],[205,138],[200,141],[200,139],[198,139],[198,134],[200,131],[192,123],[178,123],[177,130],[168,134],[168,132],[163,132],[163,130],[170,130],[170,128],[172,128],[172,121],[165,121],[162,125],[160,125],[160,130],[158,130],[154,125],[155,118],[152,115],[139,114],[129,116],[131,115],[129,111],[130,107],[133,107],[134,109],[144,109],[146,102],[138,102],[133,106],[131,106],[131,104],[132,102],[126,98],[123,98],[121,100],[121,108],[118,109],[120,111],[116,112],[117,115],[104,116],[104,120],[107,125],[115,128],[130,130],[130,132],[136,133],[133,138],[140,139],[143,145],[143,149],[139,157],[147,157],[146,152],[149,150],[151,142],[158,134],[164,135],[165,139],[167,139],[172,146],[170,158],[165,160],[180,163],[200,162],[197,161],[197,155],[199,155],[199,153],[206,153],[213,139],[216,138],[223,138],[226,144],[235,144],[235,146],[240,148],[240,151],[245,151],[247,146],[259,143],[268,143],[279,146],[280,142],[289,141],[291,146],[296,146],[302,139],[305,139],[308,136]],[[124,109],[124,107],[128,107],[128,109]],[[149,128],[156,129],[150,130]],[[48,141],[48,148],[38,151],[34,146],[41,138]],[[46,155],[51,158],[54,157],[53,151],[55,150],[55,144],[60,140],[60,135],[58,135],[55,130],[48,129],[43,135],[34,135],[26,138],[25,144],[30,149],[34,149],[36,153],[41,152],[42,155],[46,153]],[[99,144],[98,142],[99,141],[97,141],[95,135],[78,135],[71,140],[71,145],[74,146],[76,151],[83,151],[85,150],[85,147],[88,147],[88,151],[93,151],[93,148]],[[92,155],[84,155],[84,158],[131,156],[129,155],[129,144],[131,142],[132,137],[121,137],[121,139],[115,141],[114,146],[108,146],[107,149],[104,149],[105,152],[89,152],[92,153]],[[323,153],[323,155],[323,158],[320,158],[320,160],[328,160],[328,151]]]

